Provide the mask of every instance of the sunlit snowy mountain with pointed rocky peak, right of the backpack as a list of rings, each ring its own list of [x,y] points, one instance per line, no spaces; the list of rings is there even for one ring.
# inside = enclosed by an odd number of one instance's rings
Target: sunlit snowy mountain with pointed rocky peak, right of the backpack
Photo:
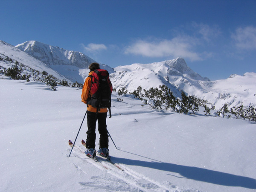
[[[180,57],[151,64],[119,66],[115,71],[116,73],[111,74],[113,86],[116,89],[126,87],[129,91],[134,91],[139,86],[149,89],[165,84],[176,96],[179,96],[180,90],[184,90],[186,85],[197,90],[198,81],[209,81],[208,78],[203,78],[191,70]]]

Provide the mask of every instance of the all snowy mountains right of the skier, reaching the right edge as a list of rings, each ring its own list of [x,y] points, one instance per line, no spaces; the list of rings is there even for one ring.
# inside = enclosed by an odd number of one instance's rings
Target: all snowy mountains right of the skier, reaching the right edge
[[[111,74],[113,86],[118,90],[125,87],[134,91],[156,88],[159,85],[169,87],[176,97],[183,90],[188,95],[205,99],[221,108],[224,103],[230,107],[243,104],[256,106],[256,73],[245,73],[244,76],[232,75],[225,80],[210,81],[191,70],[183,58],[151,64],[131,64],[114,68]]]

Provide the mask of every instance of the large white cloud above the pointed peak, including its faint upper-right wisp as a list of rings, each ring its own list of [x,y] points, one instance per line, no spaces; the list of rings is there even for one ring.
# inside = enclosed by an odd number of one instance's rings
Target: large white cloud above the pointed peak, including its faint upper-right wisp
[[[191,61],[201,61],[214,55],[212,52],[205,51],[205,47],[209,47],[210,44],[215,45],[216,38],[221,35],[221,29],[218,25],[209,26],[192,22],[173,29],[172,33],[176,34],[172,39],[137,40],[126,47],[125,53],[152,58],[180,56]]]

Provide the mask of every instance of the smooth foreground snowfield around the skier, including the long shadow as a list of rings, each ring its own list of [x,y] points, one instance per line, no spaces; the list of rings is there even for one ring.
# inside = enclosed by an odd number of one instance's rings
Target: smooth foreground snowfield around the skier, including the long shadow
[[[250,74],[249,74],[250,75]],[[252,74],[254,75],[254,74]],[[0,79],[0,191],[253,192],[256,124],[156,111],[113,92],[107,118],[112,160],[73,150],[86,105],[81,89]],[[123,99],[120,101],[118,98]],[[85,150],[86,119],[76,144]],[[99,134],[97,133],[97,141]],[[98,147],[98,145],[97,145]]]

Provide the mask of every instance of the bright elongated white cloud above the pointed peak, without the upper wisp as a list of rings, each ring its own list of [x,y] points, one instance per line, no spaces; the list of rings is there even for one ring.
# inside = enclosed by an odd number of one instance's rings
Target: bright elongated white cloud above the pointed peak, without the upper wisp
[[[197,44],[197,39],[188,36],[176,37],[172,40],[143,41],[138,40],[125,49],[126,54],[142,55],[145,57],[184,57],[191,61],[202,60],[198,53],[191,49]]]

